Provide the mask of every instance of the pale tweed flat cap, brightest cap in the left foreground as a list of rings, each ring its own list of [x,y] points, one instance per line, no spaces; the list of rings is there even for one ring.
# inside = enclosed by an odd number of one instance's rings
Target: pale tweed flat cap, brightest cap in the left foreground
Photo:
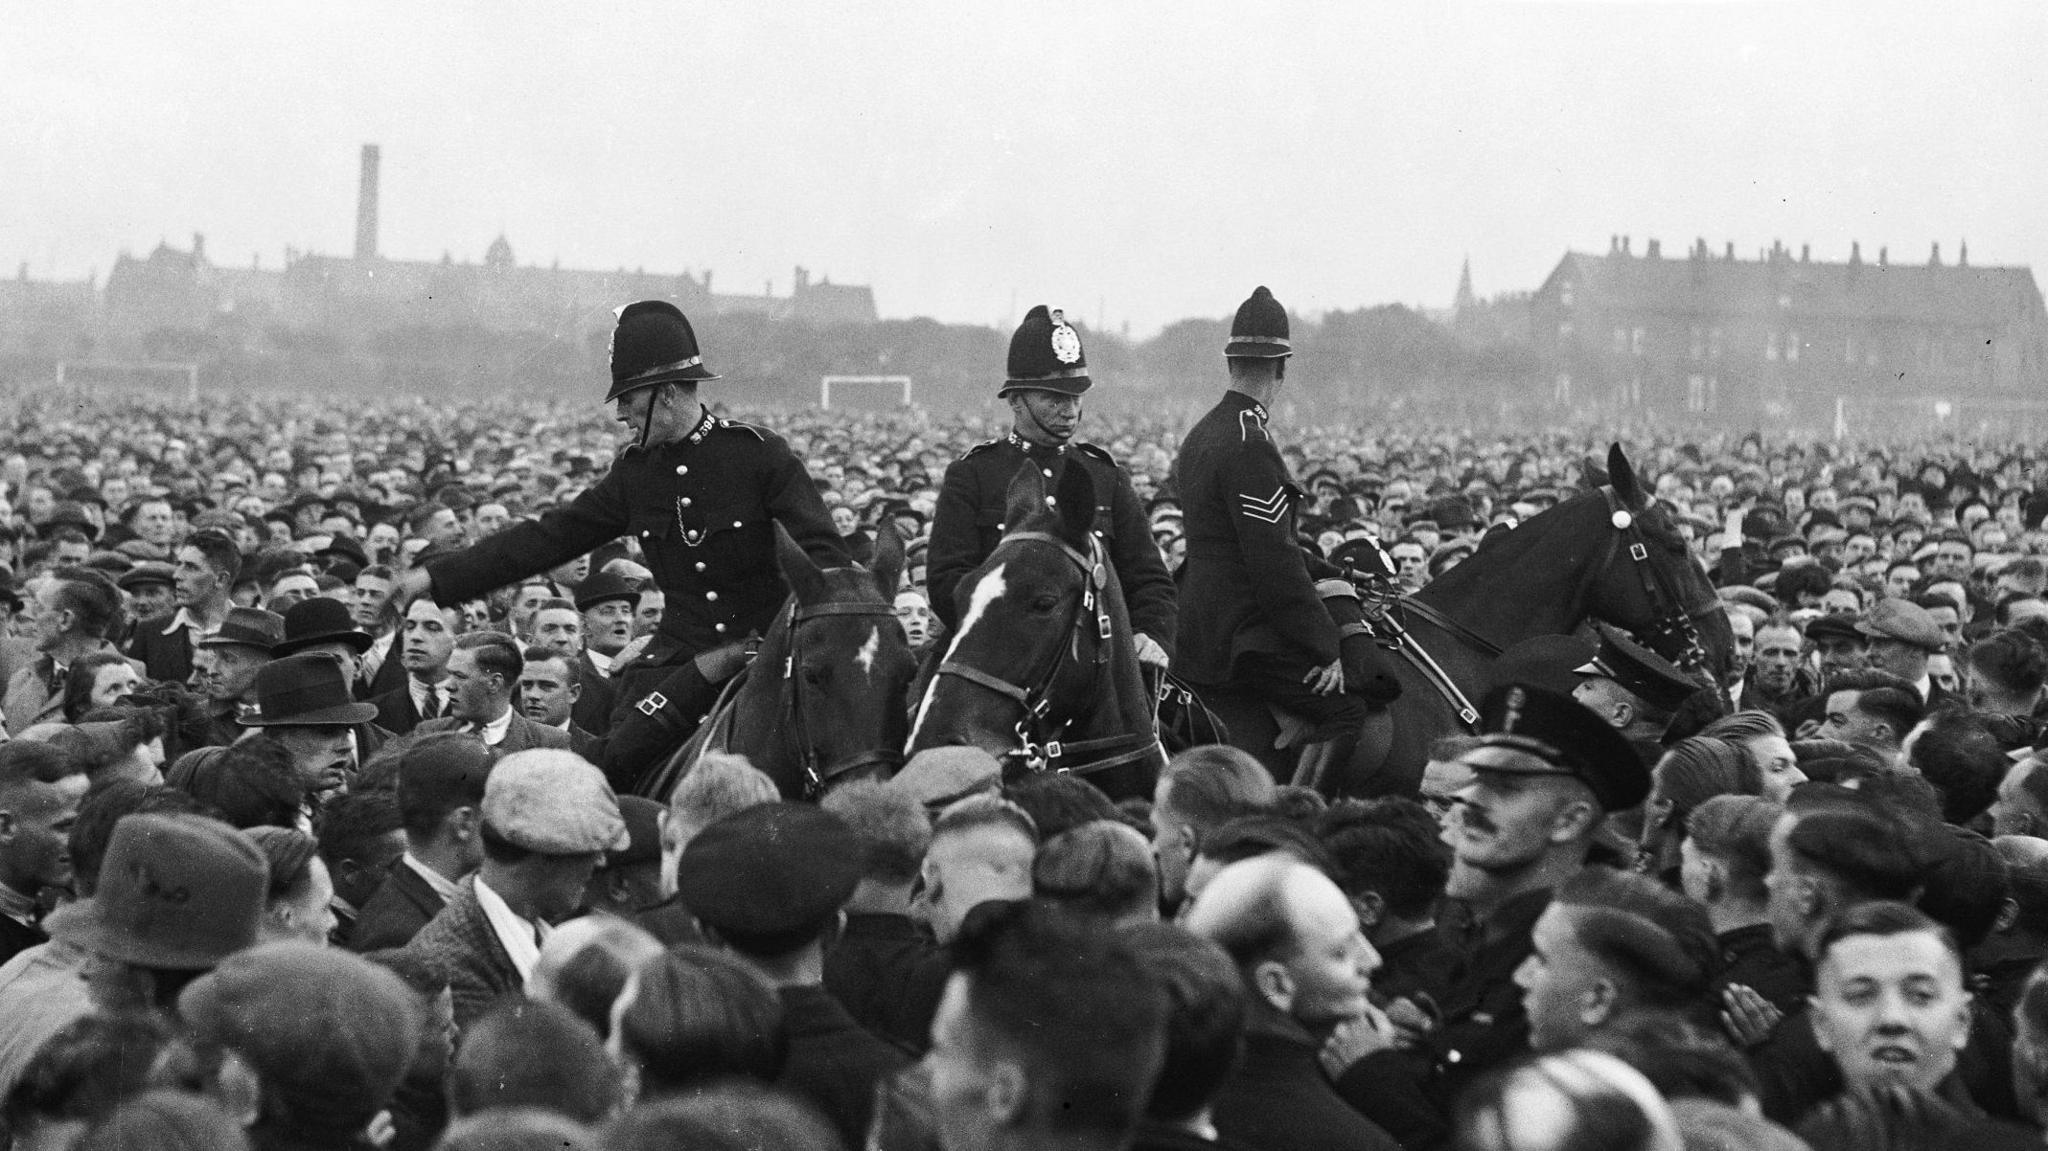
[[[575,752],[514,752],[483,782],[483,825],[545,856],[623,852],[633,846],[604,772]]]

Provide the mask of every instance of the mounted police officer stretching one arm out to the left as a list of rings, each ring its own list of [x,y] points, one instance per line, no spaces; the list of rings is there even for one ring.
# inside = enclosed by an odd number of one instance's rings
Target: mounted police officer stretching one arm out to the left
[[[614,672],[618,717],[680,709],[688,715],[676,719],[694,727],[709,707],[709,698],[696,702],[700,688],[743,664],[743,641],[766,633],[788,596],[774,524],[821,567],[850,563],[817,485],[782,436],[713,416],[696,399],[707,379],[719,377],[676,305],[649,299],[618,309],[604,401],[616,406],[633,444],[567,508],[408,571],[403,592],[430,590],[436,602],[459,604],[631,535],[668,602],[641,655]],[[672,676],[692,688],[688,705],[653,690],[670,688]]]

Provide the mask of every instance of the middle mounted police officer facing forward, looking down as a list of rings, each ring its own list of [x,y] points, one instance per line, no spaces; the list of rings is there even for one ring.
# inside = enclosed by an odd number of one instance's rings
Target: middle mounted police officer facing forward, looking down
[[[958,627],[954,592],[1004,539],[1010,479],[1026,461],[1044,473],[1049,492],[1061,469],[1079,465],[1096,481],[1094,530],[1116,565],[1139,659],[1163,668],[1174,653],[1174,578],[1153,547],[1130,473],[1110,453],[1073,438],[1090,383],[1081,334],[1059,311],[1032,307],[1010,338],[1010,377],[995,391],[1010,401],[1010,434],[956,459],[938,494],[926,553],[932,610],[948,629]]]

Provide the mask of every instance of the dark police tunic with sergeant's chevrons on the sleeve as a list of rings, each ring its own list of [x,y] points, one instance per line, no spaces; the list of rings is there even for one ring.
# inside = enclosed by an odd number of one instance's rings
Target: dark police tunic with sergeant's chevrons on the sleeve
[[[1221,686],[1247,664],[1298,664],[1294,676],[1333,664],[1337,627],[1294,541],[1305,492],[1266,430],[1266,408],[1227,391],[1188,432],[1176,471],[1188,561],[1174,672]]]

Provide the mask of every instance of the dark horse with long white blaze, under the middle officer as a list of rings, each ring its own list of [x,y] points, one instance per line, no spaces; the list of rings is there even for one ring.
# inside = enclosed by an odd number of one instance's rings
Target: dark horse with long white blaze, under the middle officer
[[[1151,795],[1165,752],[1094,518],[1087,469],[1063,469],[1053,498],[1036,467],[1018,469],[1010,532],[961,580],[961,627],[918,702],[909,754],[971,743],[1006,774],[1061,770],[1112,799]]]

